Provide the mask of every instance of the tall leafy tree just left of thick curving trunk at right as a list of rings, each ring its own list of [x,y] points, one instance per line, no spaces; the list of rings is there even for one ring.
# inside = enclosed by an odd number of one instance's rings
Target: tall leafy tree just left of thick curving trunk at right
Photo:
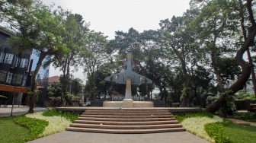
[[[192,27],[197,31],[200,48],[206,55],[203,65],[213,68],[220,92],[224,91],[225,81],[222,80],[219,65],[226,66],[223,59],[233,57],[236,50],[234,34],[238,21],[231,11],[233,3],[228,0],[206,2],[203,8],[195,7],[200,14],[191,22]]]

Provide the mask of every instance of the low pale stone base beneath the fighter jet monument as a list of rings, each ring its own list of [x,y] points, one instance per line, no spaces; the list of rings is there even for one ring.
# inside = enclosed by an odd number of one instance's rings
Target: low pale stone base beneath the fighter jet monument
[[[119,107],[119,108],[133,108],[133,107],[154,107],[152,101],[133,101],[125,99],[123,101],[104,101],[104,107]]]

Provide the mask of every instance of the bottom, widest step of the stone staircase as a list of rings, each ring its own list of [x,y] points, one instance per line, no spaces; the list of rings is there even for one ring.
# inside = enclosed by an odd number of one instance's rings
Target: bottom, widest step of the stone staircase
[[[155,132],[181,132],[186,131],[184,128],[165,128],[165,129],[93,129],[93,128],[79,128],[68,127],[67,131],[77,132],[101,132],[101,133],[114,133],[114,134],[144,134]]]

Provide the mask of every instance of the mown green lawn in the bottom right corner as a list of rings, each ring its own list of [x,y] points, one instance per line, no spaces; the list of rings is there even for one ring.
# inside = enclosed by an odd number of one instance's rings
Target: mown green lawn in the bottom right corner
[[[224,126],[224,132],[231,141],[235,143],[255,143],[256,142],[256,127],[242,126],[237,124],[229,124]]]

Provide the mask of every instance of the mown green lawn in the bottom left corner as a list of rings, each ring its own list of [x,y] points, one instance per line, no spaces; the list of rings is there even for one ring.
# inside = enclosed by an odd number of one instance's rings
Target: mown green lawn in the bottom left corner
[[[21,143],[29,135],[29,130],[13,122],[14,117],[0,117],[0,142]]]

